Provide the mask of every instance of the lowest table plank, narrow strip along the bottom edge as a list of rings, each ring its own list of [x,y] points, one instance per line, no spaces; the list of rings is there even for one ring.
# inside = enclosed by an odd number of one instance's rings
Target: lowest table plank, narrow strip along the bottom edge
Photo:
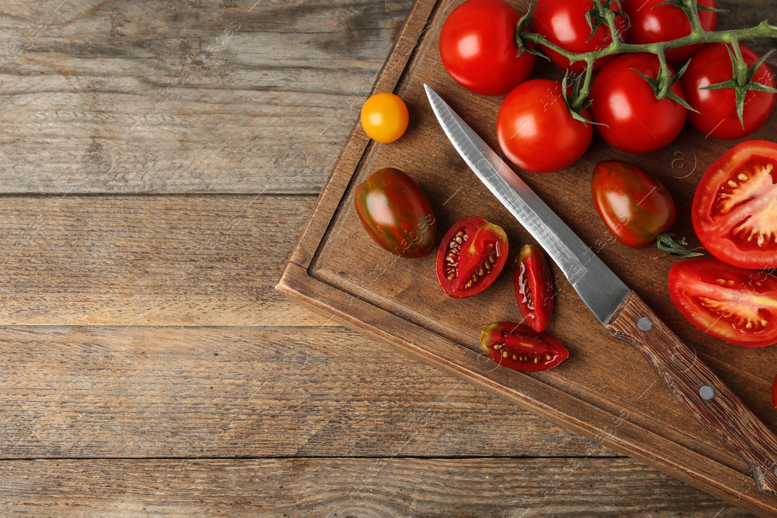
[[[9,518],[751,516],[630,459],[14,461],[0,488]]]

